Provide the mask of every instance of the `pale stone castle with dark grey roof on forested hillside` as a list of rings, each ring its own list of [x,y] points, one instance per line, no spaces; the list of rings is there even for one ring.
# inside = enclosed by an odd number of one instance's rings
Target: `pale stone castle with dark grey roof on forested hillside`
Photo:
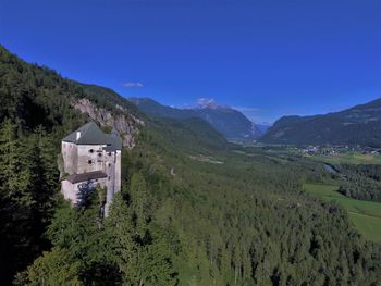
[[[62,139],[62,192],[73,204],[79,202],[79,190],[106,187],[105,215],[109,213],[114,194],[121,190],[122,140],[113,129],[105,134],[90,122]]]

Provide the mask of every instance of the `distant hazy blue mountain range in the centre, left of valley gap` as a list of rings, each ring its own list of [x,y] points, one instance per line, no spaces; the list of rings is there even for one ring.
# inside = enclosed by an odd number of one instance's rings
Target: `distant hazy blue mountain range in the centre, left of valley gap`
[[[131,98],[140,111],[153,117],[190,119],[207,121],[229,140],[256,140],[261,136],[259,128],[239,111],[216,104],[213,101],[196,109],[176,109],[162,105],[149,98]]]

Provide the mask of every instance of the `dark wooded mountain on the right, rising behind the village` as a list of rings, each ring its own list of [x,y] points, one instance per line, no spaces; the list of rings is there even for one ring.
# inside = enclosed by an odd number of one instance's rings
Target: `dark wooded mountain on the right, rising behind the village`
[[[381,147],[381,99],[324,115],[284,116],[260,141]]]

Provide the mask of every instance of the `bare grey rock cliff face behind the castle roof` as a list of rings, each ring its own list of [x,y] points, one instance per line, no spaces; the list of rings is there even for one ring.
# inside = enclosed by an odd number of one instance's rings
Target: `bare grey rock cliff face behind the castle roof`
[[[101,126],[114,127],[119,132],[125,148],[132,149],[135,147],[135,138],[139,133],[139,128],[144,126],[144,121],[132,115],[122,107],[116,107],[121,112],[115,114],[103,108],[98,108],[86,98],[73,101],[72,105],[87,114],[91,120],[99,122]]]

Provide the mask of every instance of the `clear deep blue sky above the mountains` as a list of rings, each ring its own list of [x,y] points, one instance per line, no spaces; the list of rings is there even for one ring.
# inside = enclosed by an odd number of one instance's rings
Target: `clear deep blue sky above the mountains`
[[[381,97],[380,0],[0,0],[0,42],[125,97],[256,121]]]

